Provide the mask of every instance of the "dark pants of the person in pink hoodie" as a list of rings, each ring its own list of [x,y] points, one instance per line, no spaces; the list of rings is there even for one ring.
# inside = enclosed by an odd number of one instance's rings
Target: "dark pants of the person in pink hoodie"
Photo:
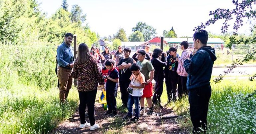
[[[188,77],[179,76],[178,78],[178,96],[181,98],[183,95],[188,95],[189,91],[187,89],[187,79]]]

